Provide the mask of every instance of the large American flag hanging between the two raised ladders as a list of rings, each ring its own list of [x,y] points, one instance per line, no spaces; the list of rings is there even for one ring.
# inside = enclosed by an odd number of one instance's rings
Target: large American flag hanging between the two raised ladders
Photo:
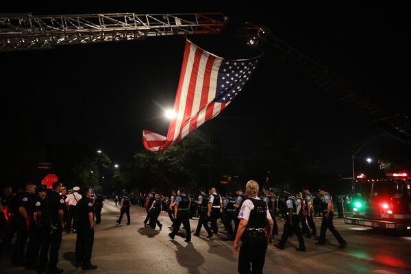
[[[258,58],[225,60],[186,40],[174,112],[167,137],[145,129],[142,143],[149,151],[164,151],[217,116],[238,95]]]

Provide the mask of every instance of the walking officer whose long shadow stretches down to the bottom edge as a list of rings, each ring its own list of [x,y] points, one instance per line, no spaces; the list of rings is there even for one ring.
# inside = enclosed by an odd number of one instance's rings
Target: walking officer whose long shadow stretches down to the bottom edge
[[[174,240],[174,236],[177,234],[180,225],[184,225],[186,229],[186,242],[191,242],[191,229],[190,229],[190,198],[186,195],[184,188],[179,189],[179,195],[175,198],[174,217],[175,223],[173,232],[169,233],[169,237]]]

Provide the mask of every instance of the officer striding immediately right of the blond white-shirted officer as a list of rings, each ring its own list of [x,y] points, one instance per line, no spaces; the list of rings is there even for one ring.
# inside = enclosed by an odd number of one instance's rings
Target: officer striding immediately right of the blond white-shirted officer
[[[306,251],[306,246],[304,245],[304,239],[301,235],[301,230],[299,228],[299,216],[297,214],[297,200],[294,196],[290,196],[286,200],[286,206],[288,208],[288,213],[286,216],[286,223],[284,223],[284,231],[281,236],[279,243],[274,245],[277,249],[284,249],[288,236],[291,232],[294,232],[297,235],[299,248],[295,249],[297,251]]]

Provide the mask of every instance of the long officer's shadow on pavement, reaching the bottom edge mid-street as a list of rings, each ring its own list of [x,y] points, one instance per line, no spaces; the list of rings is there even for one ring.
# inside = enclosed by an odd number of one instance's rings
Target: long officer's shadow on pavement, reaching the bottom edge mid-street
[[[177,247],[175,258],[177,259],[178,264],[188,269],[189,273],[199,274],[199,266],[204,263],[204,258],[199,251],[194,248],[194,245],[192,245],[191,242],[188,242],[186,247],[184,247],[175,240],[171,240],[171,242]]]

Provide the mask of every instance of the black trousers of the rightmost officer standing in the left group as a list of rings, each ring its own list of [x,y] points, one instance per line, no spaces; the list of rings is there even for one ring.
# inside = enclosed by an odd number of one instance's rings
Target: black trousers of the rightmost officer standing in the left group
[[[91,264],[91,251],[94,244],[94,228],[90,225],[78,225],[77,241],[75,242],[75,260],[83,266]]]

